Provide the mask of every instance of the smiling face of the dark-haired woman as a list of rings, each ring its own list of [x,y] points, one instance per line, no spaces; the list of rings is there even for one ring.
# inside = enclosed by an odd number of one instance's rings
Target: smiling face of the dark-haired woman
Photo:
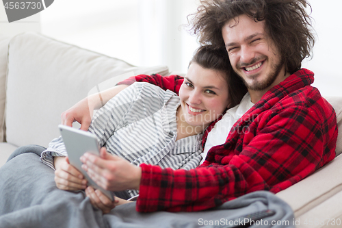
[[[230,103],[224,73],[196,62],[189,66],[179,97],[185,121],[192,126],[209,126]]]

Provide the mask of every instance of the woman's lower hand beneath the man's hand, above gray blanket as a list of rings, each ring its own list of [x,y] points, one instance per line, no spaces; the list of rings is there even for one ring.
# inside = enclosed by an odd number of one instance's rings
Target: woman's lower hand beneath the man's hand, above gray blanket
[[[98,209],[100,209],[103,214],[109,213],[114,207],[122,205],[124,203],[131,203],[131,201],[126,201],[115,197],[112,202],[108,197],[105,196],[100,190],[94,190],[91,186],[86,188],[86,196],[89,197],[90,203]]]

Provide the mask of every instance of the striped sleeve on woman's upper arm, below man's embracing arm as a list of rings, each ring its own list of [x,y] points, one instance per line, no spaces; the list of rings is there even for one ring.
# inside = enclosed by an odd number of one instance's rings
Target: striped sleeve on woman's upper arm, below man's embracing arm
[[[157,89],[157,90],[156,90]],[[118,129],[153,115],[163,105],[165,92],[147,83],[135,83],[109,100],[92,119],[89,131],[103,147]]]

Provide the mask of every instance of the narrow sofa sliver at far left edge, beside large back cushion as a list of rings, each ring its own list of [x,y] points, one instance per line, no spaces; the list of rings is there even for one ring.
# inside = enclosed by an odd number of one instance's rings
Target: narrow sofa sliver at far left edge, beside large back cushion
[[[7,53],[10,38],[0,34],[0,142],[5,139],[5,100],[6,100],[6,73]]]

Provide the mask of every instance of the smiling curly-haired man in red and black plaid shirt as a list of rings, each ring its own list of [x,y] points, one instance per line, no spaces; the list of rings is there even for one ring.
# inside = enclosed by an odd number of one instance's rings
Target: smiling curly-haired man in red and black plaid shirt
[[[310,86],[313,73],[300,69],[314,41],[306,5],[304,0],[202,1],[194,31],[203,44],[226,47],[233,70],[248,88],[240,105],[227,111],[227,118],[238,119],[233,128],[220,131],[229,122],[225,117],[209,127],[215,134],[209,134],[207,144],[213,147],[202,166],[189,171],[131,166],[102,149],[101,157],[81,157],[83,168],[108,190],[140,190],[140,212],[196,211],[256,190],[279,192],[333,160],[336,115]],[[181,83],[179,77],[160,75],[135,79],[169,89]],[[241,111],[246,114],[239,118]],[[68,125],[77,116],[73,112],[64,113]],[[218,136],[224,141],[210,142]]]

